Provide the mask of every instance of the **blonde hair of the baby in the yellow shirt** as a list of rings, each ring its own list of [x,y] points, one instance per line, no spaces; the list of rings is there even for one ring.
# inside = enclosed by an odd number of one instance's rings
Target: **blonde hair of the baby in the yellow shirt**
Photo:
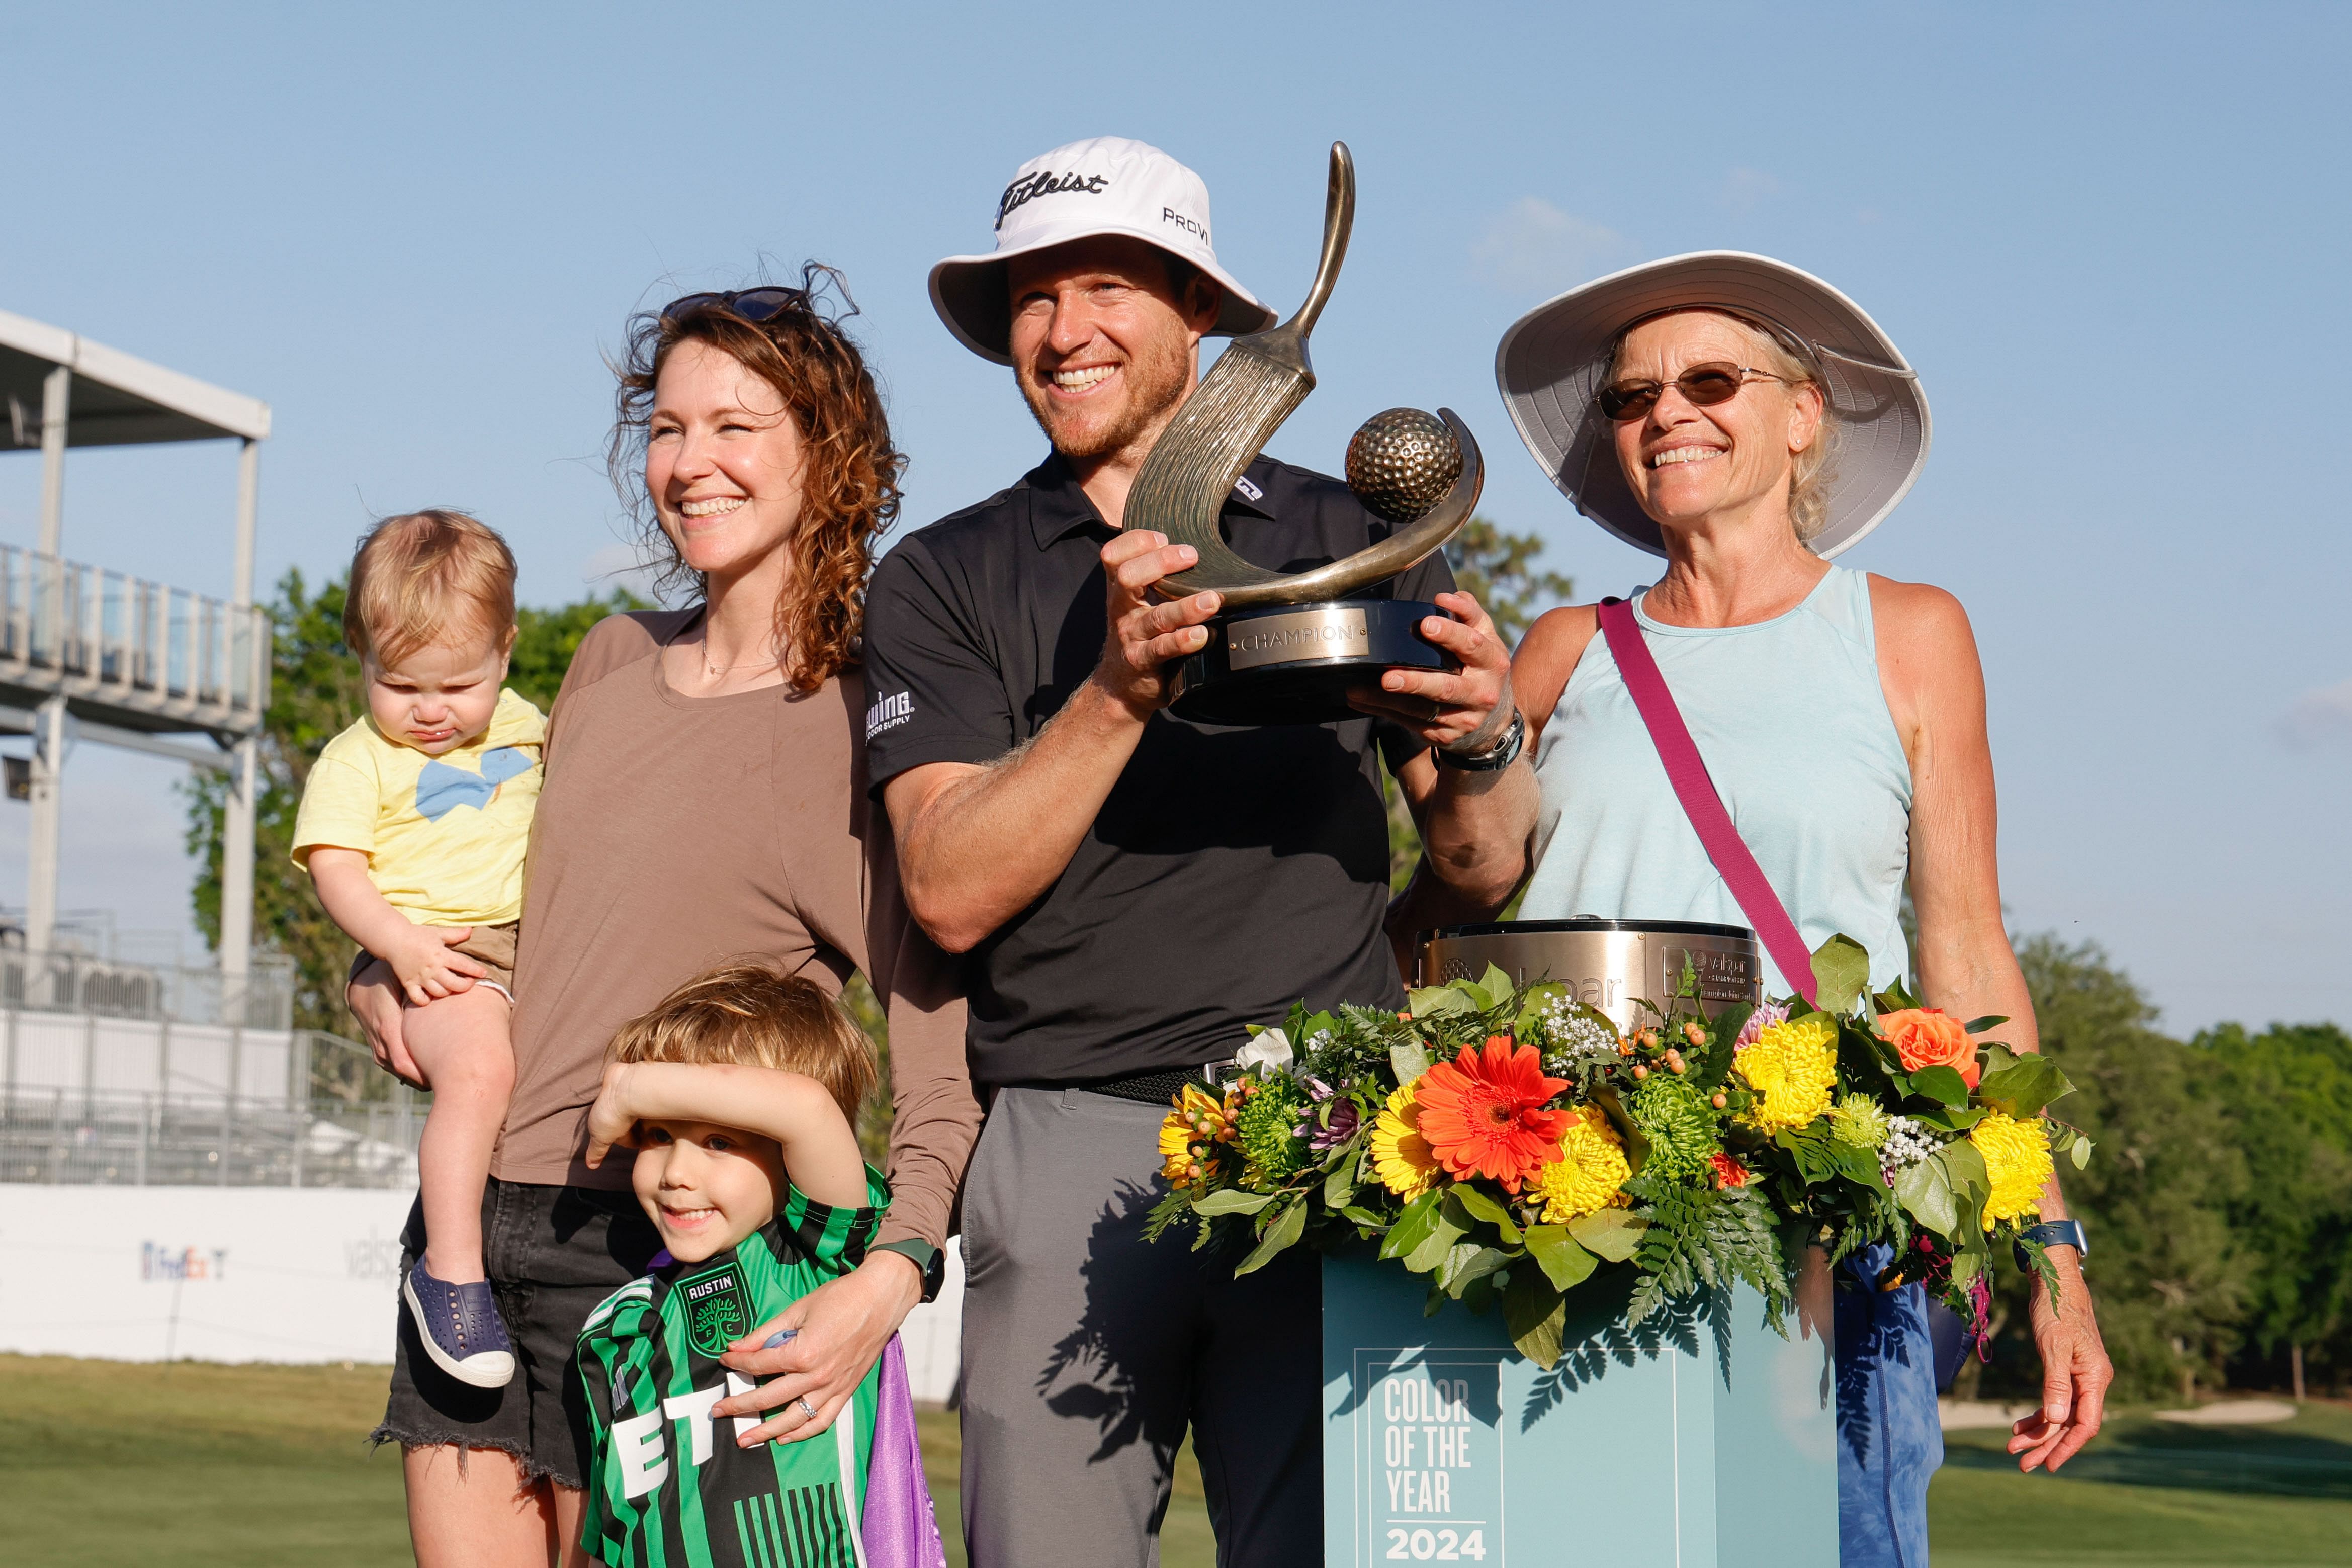
[[[515,642],[515,552],[499,534],[433,508],[386,517],[360,536],[343,592],[343,642],[379,670],[416,649],[475,632]]]

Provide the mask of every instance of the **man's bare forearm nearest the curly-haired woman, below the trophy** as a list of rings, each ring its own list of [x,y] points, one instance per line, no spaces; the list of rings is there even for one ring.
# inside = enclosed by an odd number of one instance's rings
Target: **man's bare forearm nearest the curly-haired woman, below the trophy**
[[[931,940],[969,952],[1054,886],[1148,717],[1084,682],[1028,745],[922,802],[901,825],[898,867]]]

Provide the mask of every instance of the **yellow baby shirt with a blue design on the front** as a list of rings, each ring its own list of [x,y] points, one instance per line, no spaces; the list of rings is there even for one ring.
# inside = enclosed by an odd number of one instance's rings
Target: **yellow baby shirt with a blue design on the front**
[[[489,729],[426,757],[360,719],[318,755],[294,818],[294,863],[358,849],[367,877],[419,926],[503,926],[522,917],[522,851],[539,804],[548,722],[499,691]]]

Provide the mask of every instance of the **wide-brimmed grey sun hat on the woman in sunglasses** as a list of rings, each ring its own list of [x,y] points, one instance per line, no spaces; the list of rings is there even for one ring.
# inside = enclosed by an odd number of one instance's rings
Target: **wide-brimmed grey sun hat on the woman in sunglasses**
[[[1811,360],[1830,400],[1830,520],[1809,543],[1830,557],[1879,527],[1926,463],[1919,376],[1860,306],[1785,261],[1693,252],[1646,261],[1545,301],[1494,350],[1494,378],[1519,440],[1576,510],[1628,545],[1665,555],[1658,524],[1632,498],[1609,418],[1592,404],[1609,353],[1635,322],[1715,306],[1776,327]]]

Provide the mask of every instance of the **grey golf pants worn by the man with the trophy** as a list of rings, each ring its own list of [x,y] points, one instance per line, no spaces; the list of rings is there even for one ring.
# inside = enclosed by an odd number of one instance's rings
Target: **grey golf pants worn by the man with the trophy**
[[[997,1093],[964,1178],[971,1568],[1155,1568],[1185,1427],[1218,1568],[1322,1563],[1322,1274],[1143,1241],[1167,1110]]]

